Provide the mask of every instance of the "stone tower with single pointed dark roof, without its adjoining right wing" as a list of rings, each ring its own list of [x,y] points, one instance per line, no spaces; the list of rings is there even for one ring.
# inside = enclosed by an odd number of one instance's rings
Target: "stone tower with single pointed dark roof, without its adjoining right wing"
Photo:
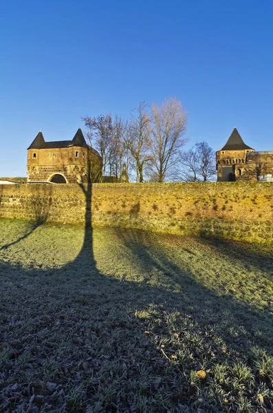
[[[216,152],[217,181],[229,182],[236,180],[235,165],[243,167],[249,152],[254,152],[254,149],[245,145],[235,127],[226,145]],[[242,170],[243,173],[247,173],[246,169],[243,168]]]

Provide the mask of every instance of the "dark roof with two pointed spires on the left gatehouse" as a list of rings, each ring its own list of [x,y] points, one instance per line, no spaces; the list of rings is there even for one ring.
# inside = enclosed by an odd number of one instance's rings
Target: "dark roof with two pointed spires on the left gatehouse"
[[[30,147],[28,149],[55,149],[55,148],[68,148],[68,147],[89,147],[83,136],[83,132],[80,128],[76,131],[76,135],[72,140],[54,140],[52,142],[45,142],[43,134],[40,131],[36,136]],[[100,156],[95,149],[91,149],[92,153],[97,156]]]

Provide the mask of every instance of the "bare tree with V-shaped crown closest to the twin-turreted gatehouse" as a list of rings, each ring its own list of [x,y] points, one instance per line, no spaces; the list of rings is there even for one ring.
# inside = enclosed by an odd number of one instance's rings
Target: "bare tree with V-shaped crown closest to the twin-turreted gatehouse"
[[[105,176],[109,157],[111,156],[111,142],[113,134],[113,123],[111,114],[83,118],[87,126],[87,139],[90,147],[94,147],[102,158],[102,176]]]

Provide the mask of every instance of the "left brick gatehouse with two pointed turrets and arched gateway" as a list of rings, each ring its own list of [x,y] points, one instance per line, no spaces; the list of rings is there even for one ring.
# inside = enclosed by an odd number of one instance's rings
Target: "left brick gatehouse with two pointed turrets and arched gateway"
[[[28,182],[100,182],[102,160],[78,129],[72,140],[45,142],[40,131],[28,147]]]

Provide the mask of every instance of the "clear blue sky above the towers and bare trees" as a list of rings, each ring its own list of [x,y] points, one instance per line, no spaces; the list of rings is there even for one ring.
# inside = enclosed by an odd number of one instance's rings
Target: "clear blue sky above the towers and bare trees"
[[[236,126],[273,150],[272,0],[10,0],[0,10],[0,176],[27,147],[73,138],[81,116],[128,116],[177,96],[188,147]]]

